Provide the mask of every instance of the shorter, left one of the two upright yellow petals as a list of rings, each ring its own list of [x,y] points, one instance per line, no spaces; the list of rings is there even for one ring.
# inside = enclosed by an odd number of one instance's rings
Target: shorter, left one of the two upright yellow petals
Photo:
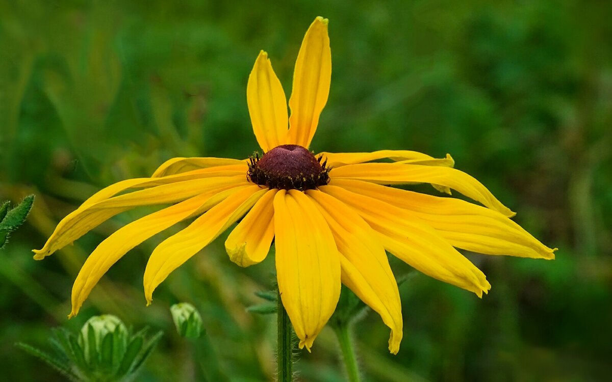
[[[286,143],[287,98],[264,51],[259,52],[247,84],[248,114],[264,152]]]

